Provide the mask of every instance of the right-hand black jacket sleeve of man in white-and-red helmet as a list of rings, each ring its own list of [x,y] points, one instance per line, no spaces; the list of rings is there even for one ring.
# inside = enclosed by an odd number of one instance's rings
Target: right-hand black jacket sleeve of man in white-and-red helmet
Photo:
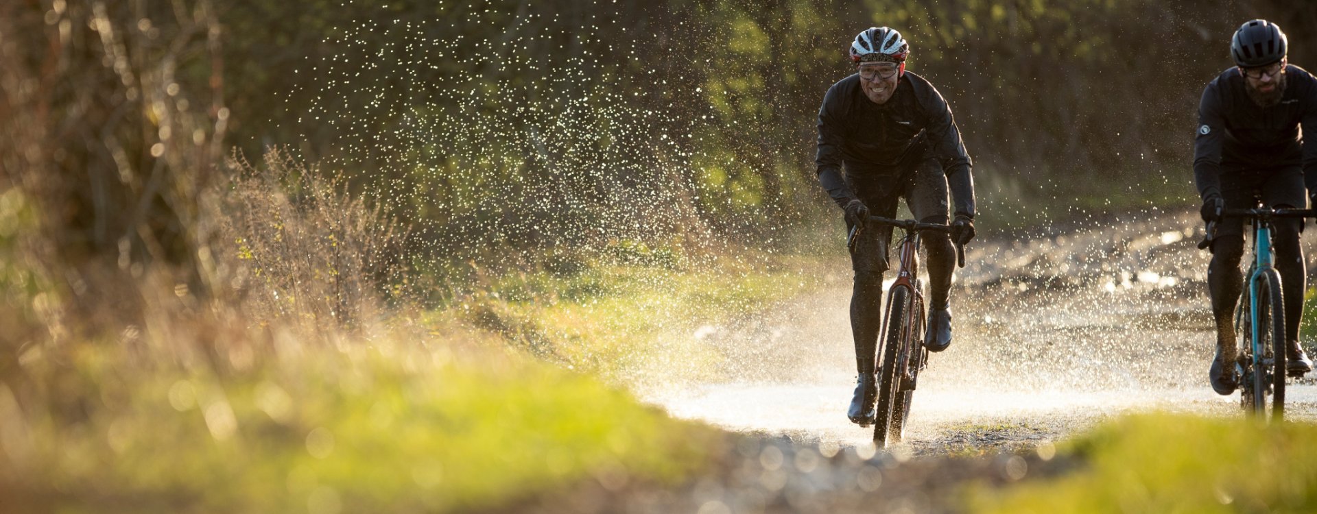
[[[965,151],[964,141],[960,139],[960,129],[951,114],[951,106],[932,84],[927,85],[927,92],[919,104],[928,122],[926,129],[928,145],[943,172],[947,174],[947,185],[955,205],[954,214],[972,218],[975,217],[975,177],[971,172],[973,163]]]

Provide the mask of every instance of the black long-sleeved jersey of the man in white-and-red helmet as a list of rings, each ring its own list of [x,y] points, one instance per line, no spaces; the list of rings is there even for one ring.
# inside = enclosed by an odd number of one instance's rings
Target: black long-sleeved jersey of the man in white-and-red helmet
[[[838,205],[855,193],[842,179],[863,180],[902,163],[918,163],[931,151],[947,175],[956,214],[975,214],[969,154],[951,108],[927,80],[906,71],[897,91],[878,105],[864,96],[860,75],[851,75],[828,88],[819,108],[819,181]]]

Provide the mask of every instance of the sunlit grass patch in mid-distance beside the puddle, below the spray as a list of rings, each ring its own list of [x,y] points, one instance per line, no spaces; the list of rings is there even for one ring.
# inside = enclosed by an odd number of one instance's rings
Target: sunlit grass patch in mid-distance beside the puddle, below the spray
[[[682,268],[597,264],[573,273],[515,273],[428,321],[462,319],[541,359],[605,377],[709,377],[719,352],[694,331],[819,287],[820,262],[752,255]]]

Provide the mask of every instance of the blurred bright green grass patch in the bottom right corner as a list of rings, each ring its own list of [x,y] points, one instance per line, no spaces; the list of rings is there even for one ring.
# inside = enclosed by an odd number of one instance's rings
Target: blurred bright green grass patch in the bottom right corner
[[[1143,414],[1060,447],[1085,464],[1054,480],[975,489],[984,513],[1317,511],[1317,426]]]

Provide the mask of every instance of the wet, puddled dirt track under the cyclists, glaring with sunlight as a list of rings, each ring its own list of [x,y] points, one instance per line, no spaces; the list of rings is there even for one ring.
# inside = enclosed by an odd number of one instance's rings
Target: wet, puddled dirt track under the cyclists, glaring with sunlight
[[[677,490],[597,490],[573,509],[954,511],[967,480],[1072,468],[1047,459],[1052,442],[1108,417],[1238,415],[1238,394],[1206,384],[1209,255],[1195,248],[1197,227],[1188,213],[1160,214],[976,241],[952,293],[955,343],[921,376],[906,442],[888,451],[843,414],[855,372],[839,263],[826,291],[702,329],[727,356],[726,380],[639,390],[732,434],[711,475]],[[1288,397],[1292,419],[1317,418],[1312,380],[1292,381]]]

